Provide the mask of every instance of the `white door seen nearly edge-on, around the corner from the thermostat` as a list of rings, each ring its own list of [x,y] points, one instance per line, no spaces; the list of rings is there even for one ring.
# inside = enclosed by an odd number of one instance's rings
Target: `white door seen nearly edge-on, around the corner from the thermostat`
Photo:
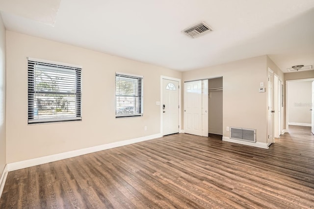
[[[274,73],[268,70],[268,125],[267,125],[267,144],[270,145],[273,143],[273,132],[274,132],[274,123],[273,123],[273,76]]]

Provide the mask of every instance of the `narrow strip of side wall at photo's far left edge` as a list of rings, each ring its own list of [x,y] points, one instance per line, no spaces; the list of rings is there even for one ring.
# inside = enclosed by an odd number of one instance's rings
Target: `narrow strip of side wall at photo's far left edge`
[[[5,80],[5,27],[0,15],[0,176],[6,164]]]

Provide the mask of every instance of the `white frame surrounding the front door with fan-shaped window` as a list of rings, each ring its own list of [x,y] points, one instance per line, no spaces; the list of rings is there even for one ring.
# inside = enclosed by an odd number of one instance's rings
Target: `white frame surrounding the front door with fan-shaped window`
[[[168,77],[168,76],[164,76],[161,75],[160,76],[160,102],[159,102],[159,106],[160,106],[160,134],[163,134],[163,114],[162,114],[162,104],[163,104],[163,88],[162,88],[162,81],[163,79],[167,79],[167,80],[172,80],[172,81],[178,81],[179,82],[179,128],[178,128],[178,132],[179,133],[183,133],[182,131],[182,124],[181,124],[181,79],[180,78],[172,78],[172,77]],[[156,102],[156,105],[157,102]]]

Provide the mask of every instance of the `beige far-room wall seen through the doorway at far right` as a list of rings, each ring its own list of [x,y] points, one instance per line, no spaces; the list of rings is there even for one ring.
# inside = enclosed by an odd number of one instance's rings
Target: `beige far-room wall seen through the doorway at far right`
[[[288,122],[311,124],[312,82],[295,81],[288,84]]]

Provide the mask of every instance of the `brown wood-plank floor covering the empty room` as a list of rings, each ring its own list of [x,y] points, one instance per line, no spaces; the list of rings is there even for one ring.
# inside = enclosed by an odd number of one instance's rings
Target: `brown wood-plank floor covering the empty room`
[[[0,208],[314,208],[314,136],[269,149],[170,135],[8,173]]]

